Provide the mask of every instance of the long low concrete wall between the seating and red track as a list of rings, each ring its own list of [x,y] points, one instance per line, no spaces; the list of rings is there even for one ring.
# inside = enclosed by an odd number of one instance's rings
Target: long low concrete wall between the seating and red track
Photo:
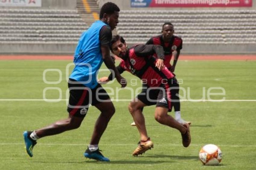
[[[0,54],[70,54],[77,44],[1,44]],[[132,46],[133,44],[128,44]],[[183,44],[182,54],[256,54],[255,44]]]

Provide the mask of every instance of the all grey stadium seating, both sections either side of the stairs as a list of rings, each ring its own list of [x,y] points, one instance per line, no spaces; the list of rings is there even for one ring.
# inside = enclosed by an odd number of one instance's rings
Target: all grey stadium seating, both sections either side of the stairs
[[[95,4],[90,1],[92,11],[97,12]],[[76,45],[92,22],[94,18],[85,11],[81,0],[74,10],[0,8],[0,43]],[[173,23],[174,34],[189,45],[256,43],[256,10],[244,9],[121,10],[113,34],[122,35],[129,45],[144,44],[161,34],[164,22]]]

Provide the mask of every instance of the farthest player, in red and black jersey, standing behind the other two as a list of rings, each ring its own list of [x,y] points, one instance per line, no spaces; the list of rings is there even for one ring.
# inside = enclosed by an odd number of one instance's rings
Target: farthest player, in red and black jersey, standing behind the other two
[[[162,26],[162,34],[156,37],[150,38],[146,44],[155,44],[161,45],[164,48],[164,65],[173,73],[180,56],[180,50],[182,49],[182,39],[173,35],[174,27],[172,23],[164,23]],[[170,64],[171,58],[173,55],[173,65]],[[146,90],[146,84],[143,84],[142,92]],[[177,95],[179,94],[179,91]],[[175,119],[179,123],[188,123],[189,125],[191,122],[187,122],[181,118],[180,114],[180,99],[178,96],[172,96],[176,102],[172,102],[172,107],[174,108]],[[143,108],[142,108],[143,111]],[[136,126],[135,122],[131,123],[131,126]]]

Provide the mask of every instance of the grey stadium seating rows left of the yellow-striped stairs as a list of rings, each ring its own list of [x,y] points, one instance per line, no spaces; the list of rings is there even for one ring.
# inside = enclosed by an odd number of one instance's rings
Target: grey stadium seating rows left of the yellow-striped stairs
[[[86,29],[77,10],[0,8],[1,44],[76,44]]]

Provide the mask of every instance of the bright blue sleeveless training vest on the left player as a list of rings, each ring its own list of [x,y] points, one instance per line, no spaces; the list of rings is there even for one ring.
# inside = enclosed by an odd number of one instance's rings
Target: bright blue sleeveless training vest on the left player
[[[95,21],[90,28],[83,32],[74,54],[74,64],[70,78],[80,81],[91,89],[97,86],[97,71],[103,62],[99,34],[104,22]]]

